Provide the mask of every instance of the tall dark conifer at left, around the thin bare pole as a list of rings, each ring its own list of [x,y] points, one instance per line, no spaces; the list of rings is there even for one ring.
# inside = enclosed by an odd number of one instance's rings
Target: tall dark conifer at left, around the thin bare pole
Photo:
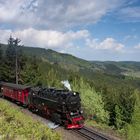
[[[25,59],[20,40],[14,39],[12,36],[8,39],[8,47],[5,51],[5,64],[3,66],[4,81],[13,82],[18,84],[18,77],[20,77],[20,71],[25,65]]]

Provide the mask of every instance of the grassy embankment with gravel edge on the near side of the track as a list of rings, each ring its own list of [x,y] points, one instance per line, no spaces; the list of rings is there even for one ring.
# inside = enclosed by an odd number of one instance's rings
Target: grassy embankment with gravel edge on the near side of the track
[[[8,120],[8,121],[7,121]],[[27,108],[0,98],[0,140],[14,139],[52,139],[52,140],[86,140],[84,135],[58,127],[50,130],[48,120],[30,112]],[[95,129],[93,129],[95,131]],[[82,130],[81,130],[82,131]],[[45,132],[45,133],[44,133]],[[96,131],[96,135],[100,131]],[[97,139],[98,140],[98,139]],[[119,140],[112,137],[111,140]]]

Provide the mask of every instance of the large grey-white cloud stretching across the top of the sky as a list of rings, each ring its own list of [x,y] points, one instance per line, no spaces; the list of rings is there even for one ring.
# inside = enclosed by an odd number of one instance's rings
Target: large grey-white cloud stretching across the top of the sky
[[[60,29],[96,23],[120,3],[121,0],[1,0],[0,22]]]

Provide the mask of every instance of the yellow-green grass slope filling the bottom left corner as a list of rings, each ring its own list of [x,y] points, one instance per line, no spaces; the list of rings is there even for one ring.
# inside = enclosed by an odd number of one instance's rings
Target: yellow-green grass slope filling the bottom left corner
[[[39,121],[15,109],[7,101],[0,101],[0,140],[60,140]]]

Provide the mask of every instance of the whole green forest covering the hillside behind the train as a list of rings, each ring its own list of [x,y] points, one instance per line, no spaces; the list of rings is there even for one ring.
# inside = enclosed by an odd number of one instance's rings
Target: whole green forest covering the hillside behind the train
[[[6,45],[0,44],[0,80],[15,83],[17,57],[18,83],[64,88],[61,81],[68,80],[72,90],[80,93],[88,125],[113,129],[125,139],[139,140],[140,78],[119,74],[113,64],[107,65],[107,72],[95,71],[87,62],[81,68],[80,59],[78,64],[69,64],[75,58],[67,54],[63,57],[67,61],[59,63],[54,58],[57,60],[61,54],[48,50],[36,55],[35,51],[35,48],[28,51],[12,37]]]

